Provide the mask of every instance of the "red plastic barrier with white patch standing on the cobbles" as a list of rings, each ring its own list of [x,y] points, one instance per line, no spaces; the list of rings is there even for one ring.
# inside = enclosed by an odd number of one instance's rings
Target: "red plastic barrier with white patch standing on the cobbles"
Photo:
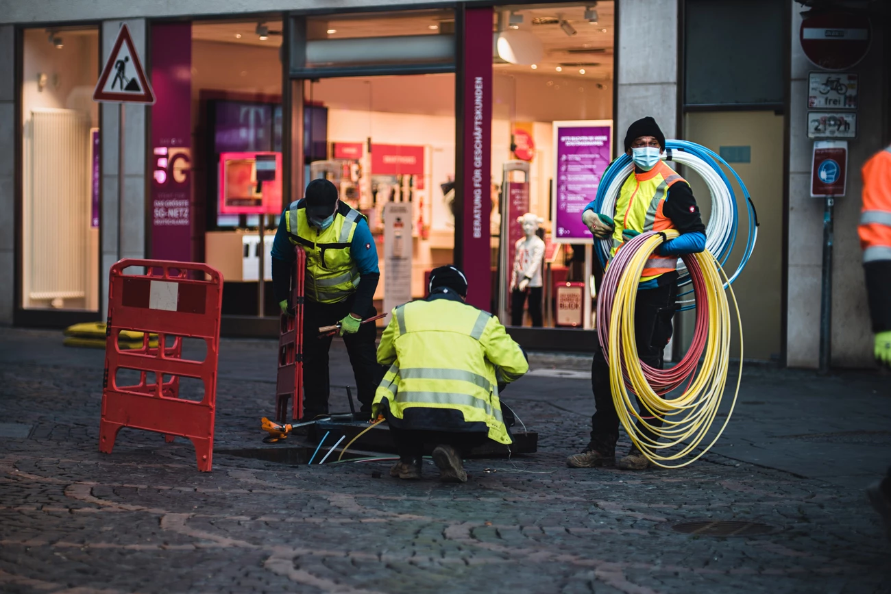
[[[147,273],[124,273],[131,266]],[[111,266],[100,452],[111,453],[121,427],[133,427],[162,433],[168,442],[190,439],[198,468],[210,471],[222,304],[223,275],[207,264],[124,259]],[[121,350],[121,330],[144,332],[143,347]],[[149,345],[150,333],[158,346]],[[184,338],[205,341],[204,361],[183,358]],[[139,381],[121,385],[119,370],[135,371]],[[180,397],[180,378],[203,383],[200,402]]]

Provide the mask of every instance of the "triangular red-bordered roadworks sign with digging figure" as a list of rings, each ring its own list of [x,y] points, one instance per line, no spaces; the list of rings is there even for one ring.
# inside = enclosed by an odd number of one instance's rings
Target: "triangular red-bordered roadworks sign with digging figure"
[[[143,72],[143,64],[133,46],[130,29],[121,25],[105,62],[102,76],[96,83],[93,101],[122,103],[154,103],[155,94]]]

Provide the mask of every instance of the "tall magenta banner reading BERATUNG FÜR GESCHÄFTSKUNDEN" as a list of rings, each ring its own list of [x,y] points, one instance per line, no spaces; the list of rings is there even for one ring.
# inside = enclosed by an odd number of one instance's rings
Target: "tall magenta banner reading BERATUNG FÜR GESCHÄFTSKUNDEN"
[[[462,267],[467,303],[492,307],[492,18],[493,9],[468,8],[464,16],[462,101]]]

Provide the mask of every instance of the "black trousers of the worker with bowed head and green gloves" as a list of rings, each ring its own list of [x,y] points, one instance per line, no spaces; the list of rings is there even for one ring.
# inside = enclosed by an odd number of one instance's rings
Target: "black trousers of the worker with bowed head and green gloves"
[[[303,315],[303,418],[313,419],[328,414],[328,395],[331,381],[328,373],[328,351],[333,337],[319,338],[320,326],[331,326],[344,319],[353,307],[353,297],[339,303],[317,303],[307,299]],[[362,313],[362,312],[356,312]],[[377,313],[374,307],[365,312],[364,318]],[[374,340],[377,331],[374,323],[359,327],[356,334],[345,334],[347,354],[353,367],[353,376],[358,388],[359,403],[363,412],[372,413],[374,391],[383,379],[386,368],[378,364],[377,347]],[[347,378],[339,378],[347,383]],[[346,394],[344,395],[346,398]]]

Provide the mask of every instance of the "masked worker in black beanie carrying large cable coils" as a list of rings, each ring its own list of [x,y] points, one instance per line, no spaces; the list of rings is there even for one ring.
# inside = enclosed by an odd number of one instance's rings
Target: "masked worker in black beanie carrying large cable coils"
[[[663,368],[663,352],[672,335],[672,318],[676,311],[677,257],[701,252],[706,248],[706,227],[699,217],[699,207],[693,198],[690,184],[674,173],[661,160],[665,151],[665,134],[653,118],[642,118],[628,127],[625,134],[625,153],[634,161],[634,175],[619,191],[616,219],[598,215],[593,202],[582,213],[584,224],[595,238],[612,236],[610,258],[622,248],[626,240],[642,232],[676,229],[681,233],[662,244],[650,256],[641,275],[641,283],[634,305],[634,331],[637,352],[641,361],[651,367]],[[591,418],[591,442],[584,452],[569,456],[572,468],[612,466],[641,470],[650,466],[642,452],[632,445],[631,452],[616,460],[619,419],[609,387],[609,366],[598,345],[591,366],[591,386],[596,411]],[[645,409],[642,409],[642,416]],[[660,427],[662,420],[646,418],[650,427]],[[638,422],[645,435],[648,427]]]

